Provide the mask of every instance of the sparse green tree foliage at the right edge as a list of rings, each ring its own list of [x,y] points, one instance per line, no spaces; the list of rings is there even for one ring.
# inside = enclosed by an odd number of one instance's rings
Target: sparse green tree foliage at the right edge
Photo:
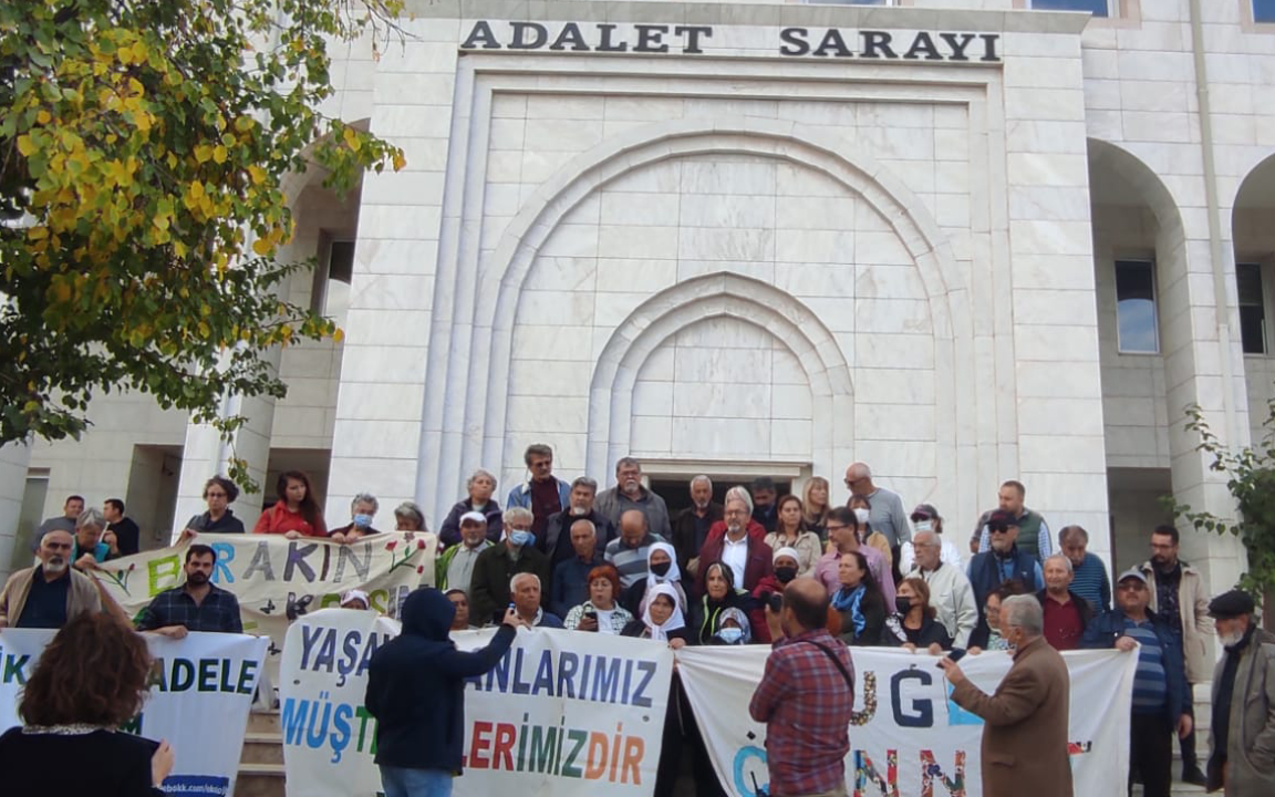
[[[1262,439],[1238,450],[1218,440],[1198,406],[1186,411],[1187,431],[1200,435],[1196,450],[1211,455],[1209,467],[1227,476],[1227,488],[1239,511],[1238,522],[1193,511],[1186,504],[1168,500],[1174,515],[1186,518],[1196,529],[1239,537],[1248,552],[1248,573],[1239,585],[1258,601],[1275,589],[1275,399],[1267,402],[1266,411]]]

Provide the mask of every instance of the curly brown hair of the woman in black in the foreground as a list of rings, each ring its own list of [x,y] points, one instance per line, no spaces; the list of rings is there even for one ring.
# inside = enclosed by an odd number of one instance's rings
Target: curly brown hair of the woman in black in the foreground
[[[142,708],[150,652],[110,615],[73,617],[36,664],[18,713],[28,726],[119,727]]]

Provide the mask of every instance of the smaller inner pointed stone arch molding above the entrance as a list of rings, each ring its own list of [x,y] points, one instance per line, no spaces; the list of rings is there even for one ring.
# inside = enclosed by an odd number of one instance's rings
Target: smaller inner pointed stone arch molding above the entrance
[[[611,334],[589,385],[586,472],[609,473],[631,450],[634,385],[648,357],[680,330],[720,316],[764,329],[797,357],[810,385],[815,428],[821,430],[815,451],[819,464],[834,450],[853,446],[853,417],[838,412],[850,407],[850,369],[833,333],[813,311],[774,286],[718,272],[655,293]]]

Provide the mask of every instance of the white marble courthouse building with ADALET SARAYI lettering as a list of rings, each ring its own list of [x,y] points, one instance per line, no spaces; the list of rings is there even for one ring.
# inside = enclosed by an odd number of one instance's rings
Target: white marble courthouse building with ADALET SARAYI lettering
[[[286,399],[228,403],[265,486],[246,523],[302,468],[329,522],[371,491],[382,528],[407,499],[437,527],[538,441],[678,496],[817,474],[839,502],[862,459],[959,538],[1017,478],[1119,566],[1162,495],[1230,511],[1182,422],[1244,444],[1272,397],[1275,1],[408,11],[403,46],[334,52],[329,103],[407,168],[289,185],[320,267],[288,292],[346,338],[279,355]],[[91,416],[3,453],[9,516],[121,497],[163,543],[228,450],[145,397]],[[1213,590],[1243,567],[1211,536],[1183,557]]]

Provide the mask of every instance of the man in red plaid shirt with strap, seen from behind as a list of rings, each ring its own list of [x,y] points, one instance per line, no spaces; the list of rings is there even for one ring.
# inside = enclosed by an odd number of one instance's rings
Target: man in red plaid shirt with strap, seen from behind
[[[815,579],[784,589],[783,608],[766,607],[775,640],[748,713],[766,723],[771,797],[845,797],[854,664],[825,629],[827,590]]]

